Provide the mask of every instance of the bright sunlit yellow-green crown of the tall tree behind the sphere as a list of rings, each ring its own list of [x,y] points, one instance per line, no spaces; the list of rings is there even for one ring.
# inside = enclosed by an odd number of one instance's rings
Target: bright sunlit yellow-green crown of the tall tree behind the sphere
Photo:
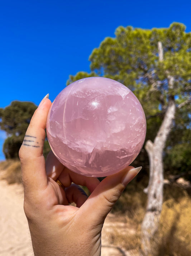
[[[163,47],[161,61],[158,42]],[[92,51],[89,60],[92,73],[78,72],[70,76],[68,84],[96,75],[117,80],[134,91],[146,116],[162,112],[169,96],[178,95],[177,103],[190,97],[191,33],[181,23],[152,30],[120,26],[114,38],[106,37]],[[173,88],[169,86],[171,76]]]

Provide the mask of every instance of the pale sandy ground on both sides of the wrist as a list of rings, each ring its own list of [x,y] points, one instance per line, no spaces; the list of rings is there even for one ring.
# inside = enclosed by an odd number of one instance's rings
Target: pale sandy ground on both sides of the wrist
[[[114,228],[124,223],[109,215],[102,230],[102,256],[130,256],[132,253],[109,242]],[[27,219],[23,210],[22,185],[8,185],[0,180],[0,256],[33,256]]]

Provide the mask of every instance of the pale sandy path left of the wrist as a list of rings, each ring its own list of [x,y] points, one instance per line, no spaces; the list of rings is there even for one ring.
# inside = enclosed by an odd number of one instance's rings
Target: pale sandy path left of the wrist
[[[0,180],[0,256],[33,256],[23,189]]]

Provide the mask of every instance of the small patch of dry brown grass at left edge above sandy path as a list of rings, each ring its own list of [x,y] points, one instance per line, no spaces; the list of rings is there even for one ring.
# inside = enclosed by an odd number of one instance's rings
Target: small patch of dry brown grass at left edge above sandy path
[[[6,160],[0,162],[0,170],[4,171],[1,179],[5,179],[8,184],[21,183],[21,170],[19,160]]]

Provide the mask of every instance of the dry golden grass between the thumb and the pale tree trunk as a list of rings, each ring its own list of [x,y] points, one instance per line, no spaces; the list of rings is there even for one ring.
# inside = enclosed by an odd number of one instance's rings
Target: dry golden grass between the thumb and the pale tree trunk
[[[109,235],[110,241],[118,247],[131,251],[131,255],[140,255],[140,224],[145,214],[146,202],[147,196],[143,193],[142,186],[136,188],[129,185],[114,206],[113,213],[116,216],[125,216],[126,226],[132,227],[134,232],[128,228],[122,231],[116,227]]]

